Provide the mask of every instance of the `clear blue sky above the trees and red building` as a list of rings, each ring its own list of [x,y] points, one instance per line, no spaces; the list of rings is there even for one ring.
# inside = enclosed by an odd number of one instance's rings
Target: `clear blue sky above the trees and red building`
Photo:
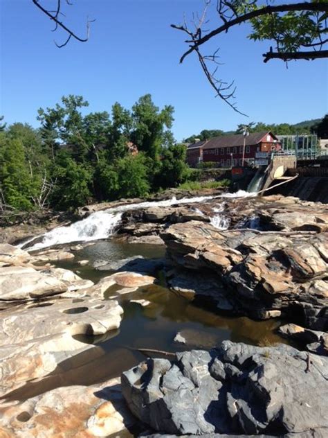
[[[40,0],[41,1],[41,0]],[[43,0],[49,4],[50,0]],[[218,98],[191,55],[180,65],[184,35],[170,28],[183,14],[201,10],[202,0],[73,0],[66,23],[84,35],[86,17],[96,19],[89,42],[53,43],[64,35],[31,0],[0,0],[0,114],[8,123],[37,126],[37,109],[61,96],[80,94],[87,111],[110,111],[116,101],[131,107],[150,93],[159,107],[175,107],[173,132],[181,140],[203,129],[234,130],[239,123],[297,123],[328,112],[326,60],[262,62],[270,42],[246,40],[239,26],[212,42],[220,47],[221,76],[235,80],[237,103],[245,118]],[[208,26],[215,25],[210,21]],[[215,44],[214,44],[215,43]]]

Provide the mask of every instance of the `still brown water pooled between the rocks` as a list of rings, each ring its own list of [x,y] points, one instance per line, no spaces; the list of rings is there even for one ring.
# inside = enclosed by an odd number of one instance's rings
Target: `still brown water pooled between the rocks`
[[[94,261],[118,261],[136,255],[160,258],[165,255],[165,247],[127,244],[113,239],[98,241],[75,254],[73,262],[57,263],[57,266],[74,270],[80,277],[96,282],[112,272],[95,270],[92,267]],[[77,262],[82,259],[88,259],[89,265],[83,268],[78,265]],[[50,376],[12,392],[7,400],[25,400],[54,387],[91,385],[120,376],[122,371],[145,359],[145,354],[138,349],[170,352],[210,349],[223,340],[264,345],[286,342],[274,333],[281,324],[279,320],[255,322],[247,317],[212,313],[192,304],[192,297],[181,296],[165,288],[163,273],[158,272],[157,277],[158,284],[144,286],[117,298],[124,309],[120,329],[102,336],[76,337],[84,342],[84,351],[61,362]],[[118,286],[109,288],[106,296],[110,299],[116,295],[117,289]],[[150,304],[142,307],[131,303],[131,299],[145,299]],[[87,299],[84,299],[81,306],[87,305]],[[185,338],[186,344],[174,342],[178,332]],[[161,357],[154,353],[150,356]]]

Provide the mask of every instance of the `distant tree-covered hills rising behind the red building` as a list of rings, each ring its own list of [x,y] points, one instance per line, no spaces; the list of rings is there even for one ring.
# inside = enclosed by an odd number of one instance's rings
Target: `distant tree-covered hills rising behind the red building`
[[[262,123],[258,122],[250,132],[272,131],[275,135],[293,135],[293,134],[311,134],[313,126],[317,125],[322,119],[304,120],[299,123],[290,125],[289,123]],[[237,130],[236,130],[237,131]],[[184,139],[185,143],[194,143],[196,139],[206,140],[211,137],[217,137],[219,135],[232,135],[236,134],[236,131],[222,131],[222,130],[202,130],[199,134],[194,134]]]

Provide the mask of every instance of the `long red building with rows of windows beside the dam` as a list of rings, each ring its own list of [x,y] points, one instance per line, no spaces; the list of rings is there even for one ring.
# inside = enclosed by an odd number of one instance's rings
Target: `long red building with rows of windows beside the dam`
[[[197,166],[200,161],[215,161],[218,167],[242,166],[244,140],[245,164],[255,163],[256,152],[281,148],[272,132],[253,132],[246,137],[243,134],[223,135],[190,144],[187,148],[188,164]]]

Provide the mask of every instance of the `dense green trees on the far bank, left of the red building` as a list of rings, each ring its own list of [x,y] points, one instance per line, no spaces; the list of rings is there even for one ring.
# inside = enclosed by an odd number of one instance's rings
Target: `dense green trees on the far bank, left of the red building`
[[[39,130],[15,123],[0,132],[2,204],[74,209],[145,197],[192,179],[186,148],[170,131],[172,106],[156,107],[150,94],[131,111],[115,103],[110,113],[82,114],[88,105],[82,96],[64,96],[39,109]]]

